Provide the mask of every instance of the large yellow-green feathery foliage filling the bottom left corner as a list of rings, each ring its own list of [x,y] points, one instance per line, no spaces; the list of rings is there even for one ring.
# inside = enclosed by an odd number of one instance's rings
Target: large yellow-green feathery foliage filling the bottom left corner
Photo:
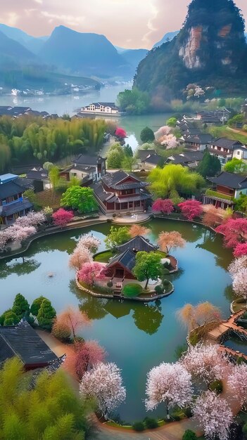
[[[27,375],[18,358],[0,370],[0,408],[2,440],[83,440],[89,431],[90,403],[76,396],[63,371]]]

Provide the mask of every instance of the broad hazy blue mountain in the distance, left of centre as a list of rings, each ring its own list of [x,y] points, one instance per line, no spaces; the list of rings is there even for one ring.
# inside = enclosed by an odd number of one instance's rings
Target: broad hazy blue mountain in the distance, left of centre
[[[46,63],[80,75],[131,78],[133,74],[132,66],[106,37],[75,32],[65,26],[53,30],[39,56]]]

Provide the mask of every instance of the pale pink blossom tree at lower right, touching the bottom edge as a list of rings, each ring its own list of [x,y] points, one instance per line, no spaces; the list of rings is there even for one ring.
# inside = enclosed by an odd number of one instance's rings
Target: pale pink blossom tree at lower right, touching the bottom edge
[[[208,439],[229,439],[229,427],[233,422],[232,411],[225,399],[215,392],[207,391],[196,399],[193,407],[194,419]]]

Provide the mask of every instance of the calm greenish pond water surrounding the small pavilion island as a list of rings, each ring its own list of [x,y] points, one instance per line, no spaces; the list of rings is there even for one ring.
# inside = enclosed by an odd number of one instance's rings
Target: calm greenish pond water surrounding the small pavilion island
[[[227,266],[232,253],[222,248],[220,235],[186,222],[154,219],[149,224],[151,242],[160,231],[179,231],[186,247],[173,252],[179,261],[179,273],[170,277],[175,292],[159,302],[136,304],[118,300],[96,299],[77,290],[75,273],[68,268],[68,258],[82,233],[93,232],[102,240],[110,224],[64,231],[34,241],[23,258],[0,262],[0,313],[11,307],[20,292],[30,303],[39,295],[48,297],[56,311],[80,305],[93,320],[82,330],[86,339],[96,339],[106,348],[108,361],[122,369],[127,388],[126,403],[120,406],[120,418],[127,422],[145,417],[146,374],[160,362],[176,361],[175,349],[184,344],[186,330],[177,321],[176,311],[187,302],[209,301],[229,316],[232,301],[231,279]],[[48,274],[52,272],[53,278]],[[160,406],[153,415],[164,415]]]

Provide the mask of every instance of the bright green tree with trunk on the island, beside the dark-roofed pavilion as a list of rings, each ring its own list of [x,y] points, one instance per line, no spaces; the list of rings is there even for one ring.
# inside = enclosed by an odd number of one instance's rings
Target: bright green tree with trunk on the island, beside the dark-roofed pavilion
[[[162,271],[161,257],[156,252],[137,252],[134,276],[139,281],[145,281],[145,289],[150,279],[158,280]]]

